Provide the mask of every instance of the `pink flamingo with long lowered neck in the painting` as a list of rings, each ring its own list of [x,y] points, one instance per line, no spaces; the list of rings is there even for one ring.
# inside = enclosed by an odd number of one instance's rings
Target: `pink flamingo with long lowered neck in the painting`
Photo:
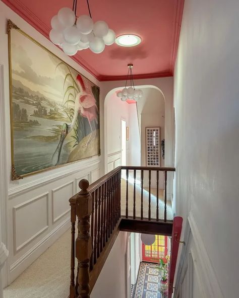
[[[92,124],[94,125],[94,130],[96,129],[94,121],[96,122],[96,124],[98,124],[99,110],[96,105],[96,100],[92,93],[91,87],[88,86],[88,84],[85,84],[83,78],[80,75],[77,76],[77,83],[81,87],[80,88],[81,92],[79,92],[77,94],[76,99],[75,99],[74,116],[73,116],[72,122],[70,124],[64,123],[62,126],[62,133],[61,133],[61,137],[59,139],[59,143],[56,147],[54,154],[52,155],[52,164],[54,166],[59,163],[63,142],[64,142],[67,134],[76,125],[78,114],[82,115],[82,117],[87,118],[89,125],[90,125],[90,129],[91,129],[91,134],[90,134],[90,137],[86,143],[86,146],[92,139],[92,135],[93,135]]]

